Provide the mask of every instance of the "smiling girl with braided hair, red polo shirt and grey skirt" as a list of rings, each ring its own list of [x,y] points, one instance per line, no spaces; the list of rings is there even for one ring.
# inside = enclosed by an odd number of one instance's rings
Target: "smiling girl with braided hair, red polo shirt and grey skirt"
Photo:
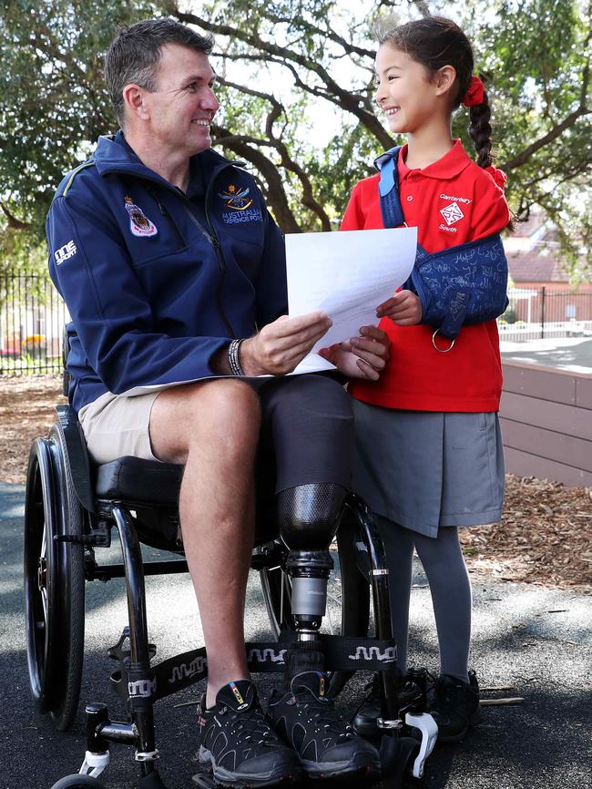
[[[508,224],[505,175],[492,166],[490,108],[473,76],[471,45],[448,19],[383,23],[376,101],[393,135],[407,135],[397,175],[405,224],[433,253],[494,236]],[[453,111],[470,108],[477,162],[451,133]],[[342,230],[383,227],[379,175],[352,191]],[[454,343],[422,323],[413,290],[378,308],[391,338],[376,382],[354,382],[354,488],[383,537],[400,668],[406,671],[413,548],[429,580],[440,648],[432,712],[441,742],[460,740],[479,712],[468,671],[471,587],[458,527],[501,517],[504,461],[497,410],[502,369],[495,321],[463,325]],[[356,718],[372,733],[373,704]]]

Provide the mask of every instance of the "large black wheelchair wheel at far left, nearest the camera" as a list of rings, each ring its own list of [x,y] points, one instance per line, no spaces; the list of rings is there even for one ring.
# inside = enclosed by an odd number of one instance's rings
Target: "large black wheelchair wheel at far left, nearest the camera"
[[[26,651],[39,712],[60,731],[77,712],[84,651],[84,548],[56,541],[82,534],[83,515],[59,425],[29,456],[25,505]]]

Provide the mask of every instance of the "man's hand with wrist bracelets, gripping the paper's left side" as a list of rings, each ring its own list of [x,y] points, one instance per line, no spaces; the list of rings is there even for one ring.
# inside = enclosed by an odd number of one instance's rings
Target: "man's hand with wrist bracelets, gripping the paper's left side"
[[[245,375],[286,375],[309,353],[314,343],[331,327],[325,313],[309,313],[263,326],[240,343],[240,366]]]

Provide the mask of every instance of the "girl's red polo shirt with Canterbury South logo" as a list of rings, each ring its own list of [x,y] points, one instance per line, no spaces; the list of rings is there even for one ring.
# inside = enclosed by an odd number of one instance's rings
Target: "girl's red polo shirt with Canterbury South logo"
[[[469,159],[460,140],[424,169],[404,163],[399,154],[399,193],[403,216],[417,227],[418,242],[428,252],[448,249],[501,231],[509,220],[502,186],[505,175],[482,169]],[[383,227],[378,174],[355,185],[342,231]],[[395,326],[384,318],[391,338],[391,358],[377,382],[354,381],[354,397],[373,405],[413,411],[497,411],[502,393],[502,365],[495,321],[464,326],[453,349],[434,349],[431,326]],[[449,341],[439,339],[442,347]]]

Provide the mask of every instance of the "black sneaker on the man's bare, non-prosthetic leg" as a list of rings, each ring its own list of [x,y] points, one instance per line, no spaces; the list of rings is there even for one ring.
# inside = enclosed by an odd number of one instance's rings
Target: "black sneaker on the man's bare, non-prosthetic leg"
[[[250,680],[224,685],[209,710],[204,694],[198,715],[199,762],[218,784],[274,786],[301,777],[298,756],[271,731]]]

